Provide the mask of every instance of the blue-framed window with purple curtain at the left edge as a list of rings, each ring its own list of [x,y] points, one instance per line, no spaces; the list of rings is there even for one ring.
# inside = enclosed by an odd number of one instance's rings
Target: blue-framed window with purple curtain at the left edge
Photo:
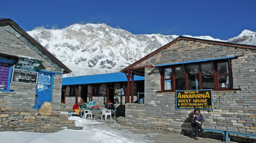
[[[10,91],[10,82],[14,60],[0,58],[0,91]]]

